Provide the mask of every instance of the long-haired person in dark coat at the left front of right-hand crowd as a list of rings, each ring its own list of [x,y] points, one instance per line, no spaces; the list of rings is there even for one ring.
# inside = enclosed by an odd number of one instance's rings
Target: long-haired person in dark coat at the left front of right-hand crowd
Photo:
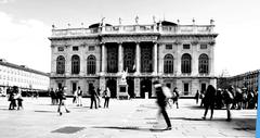
[[[216,100],[216,89],[212,85],[209,85],[206,90],[205,97],[204,97],[205,112],[204,112],[203,120],[206,120],[209,108],[211,110],[210,120],[212,120],[213,109],[214,109],[214,100]]]

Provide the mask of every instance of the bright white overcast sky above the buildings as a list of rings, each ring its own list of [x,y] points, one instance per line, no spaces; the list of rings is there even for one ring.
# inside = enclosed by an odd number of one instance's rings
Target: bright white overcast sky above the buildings
[[[259,0],[0,0],[0,59],[50,72],[51,25],[64,28],[105,22],[117,25],[152,24],[167,20],[180,24],[216,22],[216,75],[236,75],[260,68]]]

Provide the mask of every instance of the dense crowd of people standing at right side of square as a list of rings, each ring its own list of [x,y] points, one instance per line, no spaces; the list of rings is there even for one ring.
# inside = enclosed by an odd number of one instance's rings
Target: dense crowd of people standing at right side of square
[[[205,92],[196,92],[195,99],[202,99],[200,106],[205,108],[203,120],[206,120],[208,109],[211,110],[210,120],[213,117],[213,110],[226,109],[226,121],[231,121],[231,110],[257,109],[258,90],[248,90],[246,88],[235,88],[230,86],[227,89],[216,89],[209,85]]]

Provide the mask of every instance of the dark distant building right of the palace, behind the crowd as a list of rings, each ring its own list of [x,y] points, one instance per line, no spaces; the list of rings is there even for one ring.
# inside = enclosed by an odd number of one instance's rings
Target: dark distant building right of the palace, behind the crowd
[[[218,87],[227,88],[232,85],[234,87],[247,88],[248,90],[257,90],[259,72],[260,70],[257,70],[231,77],[219,78]]]

